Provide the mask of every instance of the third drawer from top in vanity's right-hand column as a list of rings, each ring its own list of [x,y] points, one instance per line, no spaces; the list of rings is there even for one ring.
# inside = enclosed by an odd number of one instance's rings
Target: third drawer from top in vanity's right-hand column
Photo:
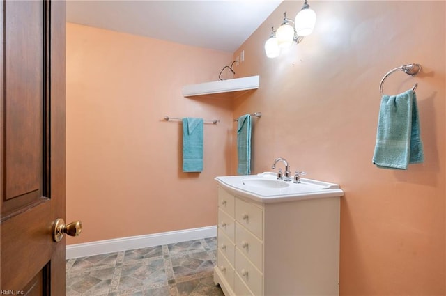
[[[236,272],[254,295],[263,295],[263,274],[237,248]]]

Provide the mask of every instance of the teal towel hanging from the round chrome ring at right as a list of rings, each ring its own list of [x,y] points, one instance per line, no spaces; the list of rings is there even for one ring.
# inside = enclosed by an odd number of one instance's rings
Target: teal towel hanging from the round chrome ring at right
[[[408,164],[424,162],[417,96],[411,89],[383,95],[373,162],[383,169],[407,169]]]

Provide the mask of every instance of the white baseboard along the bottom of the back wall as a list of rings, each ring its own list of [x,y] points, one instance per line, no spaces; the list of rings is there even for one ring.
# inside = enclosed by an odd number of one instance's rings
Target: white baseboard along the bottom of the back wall
[[[217,236],[217,226],[208,226],[185,229],[182,231],[121,237],[113,240],[85,242],[83,244],[69,244],[66,246],[66,258],[71,259],[131,249],[154,247],[161,244],[174,244],[176,242],[199,240],[215,236]]]

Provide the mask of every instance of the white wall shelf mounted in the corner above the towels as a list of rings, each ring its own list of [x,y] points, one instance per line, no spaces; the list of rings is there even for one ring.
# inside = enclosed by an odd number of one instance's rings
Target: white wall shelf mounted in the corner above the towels
[[[183,86],[183,96],[231,93],[259,88],[259,75]]]

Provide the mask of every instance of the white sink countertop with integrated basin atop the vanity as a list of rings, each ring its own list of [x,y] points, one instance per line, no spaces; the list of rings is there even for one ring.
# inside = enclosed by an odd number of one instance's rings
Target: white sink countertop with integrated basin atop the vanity
[[[251,198],[261,203],[277,203],[311,198],[343,196],[339,185],[301,178],[300,183],[277,180],[276,173],[215,177],[218,184],[236,196]]]

